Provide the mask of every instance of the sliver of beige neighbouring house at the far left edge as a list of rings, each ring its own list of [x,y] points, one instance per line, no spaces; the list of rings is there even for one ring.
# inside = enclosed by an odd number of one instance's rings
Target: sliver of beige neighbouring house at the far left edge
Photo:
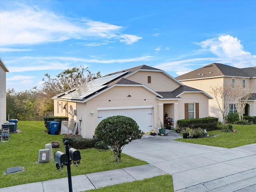
[[[6,122],[6,72],[9,72],[0,58],[0,124]]]

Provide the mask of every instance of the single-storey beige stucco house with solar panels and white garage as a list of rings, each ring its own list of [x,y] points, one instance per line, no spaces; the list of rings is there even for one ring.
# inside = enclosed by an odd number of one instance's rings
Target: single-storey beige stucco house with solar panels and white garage
[[[163,70],[142,65],[108,74],[53,97],[54,116],[68,116],[81,125],[81,134],[92,138],[98,123],[108,116],[133,118],[143,132],[174,119],[208,116],[202,90],[185,86]]]

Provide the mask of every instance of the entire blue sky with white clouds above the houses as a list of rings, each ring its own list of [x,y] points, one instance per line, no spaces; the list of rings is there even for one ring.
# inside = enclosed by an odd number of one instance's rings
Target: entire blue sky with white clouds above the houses
[[[256,1],[0,0],[6,88],[67,68],[102,76],[148,65],[176,77],[218,62],[256,66]]]

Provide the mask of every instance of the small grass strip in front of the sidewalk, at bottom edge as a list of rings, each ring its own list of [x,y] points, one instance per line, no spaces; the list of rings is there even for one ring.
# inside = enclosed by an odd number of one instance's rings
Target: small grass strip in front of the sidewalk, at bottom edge
[[[172,176],[156,176],[142,181],[128,182],[99,189],[88,190],[86,192],[173,192]]]

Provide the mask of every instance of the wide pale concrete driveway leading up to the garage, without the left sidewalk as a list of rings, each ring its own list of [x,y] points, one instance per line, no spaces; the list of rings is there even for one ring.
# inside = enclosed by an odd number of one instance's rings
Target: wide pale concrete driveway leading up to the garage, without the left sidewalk
[[[173,140],[179,137],[144,135],[123,152],[172,174],[176,192],[256,191],[256,144],[227,149]]]

